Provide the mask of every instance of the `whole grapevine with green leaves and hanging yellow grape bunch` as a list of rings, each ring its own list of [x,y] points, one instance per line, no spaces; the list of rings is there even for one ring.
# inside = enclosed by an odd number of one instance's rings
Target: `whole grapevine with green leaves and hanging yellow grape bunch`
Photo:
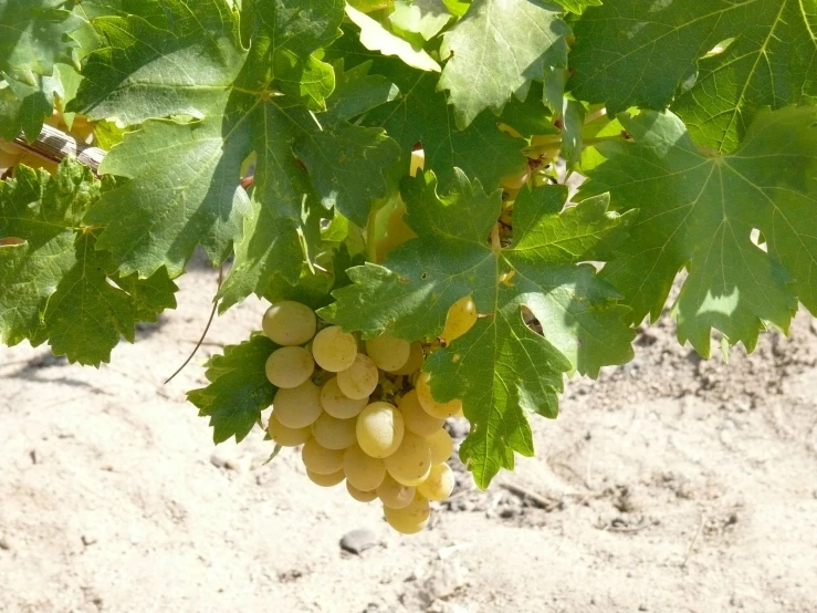
[[[200,248],[220,313],[271,304],[188,395],[214,441],[262,425],[416,532],[453,487],[447,418],[488,487],[673,283],[705,357],[817,314],[815,15],[0,0],[0,340],[99,366]]]

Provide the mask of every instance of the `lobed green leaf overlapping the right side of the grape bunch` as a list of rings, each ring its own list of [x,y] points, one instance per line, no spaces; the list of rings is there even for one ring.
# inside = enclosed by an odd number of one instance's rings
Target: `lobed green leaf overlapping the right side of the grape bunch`
[[[488,236],[502,206],[501,191],[485,194],[458,170],[448,196],[432,173],[405,180],[407,221],[418,235],[383,266],[348,271],[353,285],[334,292],[324,318],[370,337],[389,332],[407,340],[434,337],[448,309],[470,294],[483,315],[463,336],[428,361],[439,401],[461,398],[471,435],[461,448],[480,487],[513,451],[533,453],[525,414],[555,417],[563,373],[596,376],[605,364],[632,356],[633,332],[621,321],[618,293],[596,277],[588,260],[618,242],[632,214],[607,212],[598,197],[563,210],[567,188],[524,189],[513,212],[511,246]],[[523,320],[523,308],[544,336]]]

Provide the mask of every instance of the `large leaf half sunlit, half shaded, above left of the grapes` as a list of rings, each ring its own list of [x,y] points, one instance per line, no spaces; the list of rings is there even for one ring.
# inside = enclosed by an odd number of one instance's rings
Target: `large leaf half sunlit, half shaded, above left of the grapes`
[[[381,128],[349,122],[390,100],[385,79],[336,75],[321,59],[341,33],[341,0],[253,2],[249,51],[231,7],[167,0],[159,12],[144,3],[136,14],[93,19],[107,44],[88,55],[71,105],[142,123],[101,166],[130,180],[88,216],[105,227],[97,247],[114,253],[123,274],[140,277],[161,267],[180,274],[197,245],[213,263],[234,249],[222,309],[263,295],[274,280],[296,282],[304,241],[317,233],[306,221],[313,209],[334,206],[365,224],[371,202],[396,189],[400,157]],[[336,81],[345,107],[328,102]],[[240,179],[252,154],[248,196]]]

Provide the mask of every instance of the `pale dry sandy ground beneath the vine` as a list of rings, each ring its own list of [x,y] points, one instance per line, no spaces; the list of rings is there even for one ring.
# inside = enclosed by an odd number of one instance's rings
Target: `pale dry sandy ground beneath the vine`
[[[461,475],[417,537],[264,466],[260,430],[213,449],[184,392],[211,270],[101,371],[0,347],[0,612],[817,612],[817,335],[700,361],[671,322],[637,360],[568,384],[537,457],[486,492]],[[217,320],[198,357],[263,305]],[[462,424],[452,424],[461,434]],[[362,554],[339,539],[368,529]]]

